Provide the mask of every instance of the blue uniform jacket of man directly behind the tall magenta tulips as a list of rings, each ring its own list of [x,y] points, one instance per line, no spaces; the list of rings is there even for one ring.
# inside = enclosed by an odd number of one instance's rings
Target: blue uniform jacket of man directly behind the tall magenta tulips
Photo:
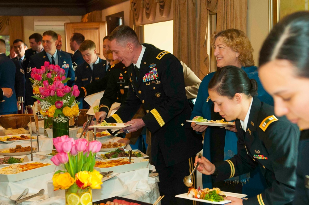
[[[64,69],[66,72],[66,77],[70,77],[71,79],[67,82],[68,86],[74,85],[74,79],[75,79],[75,73],[72,66],[71,56],[69,54],[66,54],[62,51],[57,51],[58,56],[58,65],[60,68]],[[40,69],[42,65],[44,65],[45,61],[49,61],[48,56],[45,51],[39,52],[35,55],[30,56],[29,65],[27,67],[27,72],[25,72],[26,75],[26,105],[33,105],[33,103],[36,101],[35,98],[32,98],[33,92],[32,92],[32,83],[29,80],[31,78],[31,69],[37,68]],[[66,85],[66,83],[65,83]]]

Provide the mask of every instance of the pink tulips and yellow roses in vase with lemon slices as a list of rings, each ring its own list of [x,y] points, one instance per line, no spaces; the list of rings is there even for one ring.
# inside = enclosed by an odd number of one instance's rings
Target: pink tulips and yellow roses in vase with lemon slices
[[[67,135],[53,138],[53,144],[58,153],[51,160],[62,168],[53,175],[54,190],[66,190],[68,205],[91,205],[91,189],[100,189],[102,184],[103,176],[93,169],[102,144]]]

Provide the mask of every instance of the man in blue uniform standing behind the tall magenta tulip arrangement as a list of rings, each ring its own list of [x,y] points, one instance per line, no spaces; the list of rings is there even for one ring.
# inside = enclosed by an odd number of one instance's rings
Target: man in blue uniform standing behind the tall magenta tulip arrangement
[[[72,66],[71,57],[62,51],[57,51],[56,45],[58,36],[54,31],[45,31],[43,33],[43,48],[44,51],[32,55],[30,57],[29,65],[26,74],[26,105],[33,105],[35,99],[32,98],[32,83],[29,78],[31,77],[32,68],[41,68],[45,61],[49,61],[53,65],[59,65],[60,68],[64,69],[66,72],[66,77],[71,78],[68,82],[68,86],[74,85],[75,74]],[[66,85],[66,83],[65,83]]]

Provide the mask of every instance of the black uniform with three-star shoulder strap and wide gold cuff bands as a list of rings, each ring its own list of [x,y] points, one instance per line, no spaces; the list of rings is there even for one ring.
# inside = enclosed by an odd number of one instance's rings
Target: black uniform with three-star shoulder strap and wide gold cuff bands
[[[167,51],[146,48],[139,75],[133,64],[128,67],[128,74],[131,85],[127,100],[106,121],[127,122],[143,104],[146,115],[142,119],[151,132],[151,154],[160,176],[159,190],[165,195],[161,202],[192,204],[189,200],[179,201],[174,197],[188,191],[183,178],[192,171],[193,156],[202,149],[202,136],[185,122],[191,109],[185,93],[182,65]]]

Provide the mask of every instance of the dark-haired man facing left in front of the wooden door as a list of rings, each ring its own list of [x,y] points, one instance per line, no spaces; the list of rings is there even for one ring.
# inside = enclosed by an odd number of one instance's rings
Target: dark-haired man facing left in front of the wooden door
[[[74,71],[79,64],[82,64],[83,62],[85,62],[82,54],[78,50],[80,44],[82,44],[84,40],[85,40],[85,37],[81,33],[72,33],[71,38],[70,38],[70,48],[72,51],[74,51],[74,54],[72,56],[72,64],[73,64]]]

